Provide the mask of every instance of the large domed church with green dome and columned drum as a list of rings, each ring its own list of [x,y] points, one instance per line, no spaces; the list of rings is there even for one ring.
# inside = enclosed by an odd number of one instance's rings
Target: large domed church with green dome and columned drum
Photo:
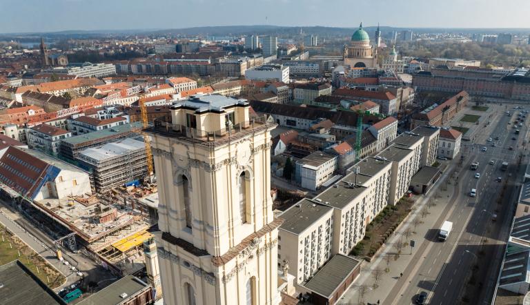
[[[351,35],[350,44],[344,46],[342,58],[344,66],[350,68],[377,68],[377,48],[371,45],[368,33],[362,29],[362,23],[359,30]]]

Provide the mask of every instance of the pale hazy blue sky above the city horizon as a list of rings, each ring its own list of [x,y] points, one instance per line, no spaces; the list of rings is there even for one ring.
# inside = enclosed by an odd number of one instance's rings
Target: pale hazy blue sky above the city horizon
[[[0,0],[0,32],[270,24],[530,28],[530,0]]]

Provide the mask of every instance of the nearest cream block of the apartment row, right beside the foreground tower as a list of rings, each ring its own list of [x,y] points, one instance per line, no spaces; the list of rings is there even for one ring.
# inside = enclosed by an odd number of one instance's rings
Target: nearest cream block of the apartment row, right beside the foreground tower
[[[333,207],[302,199],[279,218],[284,223],[278,228],[278,262],[286,259],[289,273],[300,284],[331,258]]]

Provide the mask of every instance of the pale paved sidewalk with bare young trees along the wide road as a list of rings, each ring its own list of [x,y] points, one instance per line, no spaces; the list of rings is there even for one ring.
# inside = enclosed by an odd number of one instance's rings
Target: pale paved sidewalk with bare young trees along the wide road
[[[382,250],[382,252],[377,255],[372,262],[362,263],[360,276],[355,280],[355,282],[353,282],[351,288],[346,291],[344,297],[340,299],[338,304],[360,304],[360,302],[364,302],[365,304],[366,302],[377,304],[377,301],[380,301],[380,304],[383,304],[384,299],[386,299],[387,295],[392,291],[394,286],[396,284],[401,284],[400,281],[406,280],[408,275],[403,274],[402,279],[400,279],[400,273],[403,273],[406,267],[411,264],[411,260],[413,259],[416,251],[419,248],[424,248],[428,244],[428,241],[424,238],[424,236],[429,230],[432,229],[433,224],[438,220],[444,208],[446,208],[446,200],[452,197],[452,195],[455,193],[456,189],[453,184],[453,179],[450,179],[449,176],[453,173],[457,166],[457,160],[454,160],[451,162],[451,164],[449,164],[444,172],[444,175],[438,179],[436,185],[433,186],[429,194],[422,196],[420,199],[418,199],[418,201],[416,201],[409,216],[406,217],[402,224],[396,229],[393,237],[387,240],[387,242],[384,244],[384,250]],[[444,181],[446,180],[451,181],[451,184],[447,185],[446,190],[442,190],[441,186],[444,185]],[[435,199],[435,194],[439,194],[440,197]],[[429,214],[426,215],[426,217],[422,217],[421,211],[427,206],[427,203],[431,198],[433,202],[435,202],[435,206],[431,206],[431,208],[429,208]],[[415,218],[420,219],[422,222],[418,224],[416,228],[414,228]],[[413,233],[408,240],[406,240],[406,237],[402,234],[407,230],[407,228],[410,228],[411,231],[416,232]],[[415,248],[411,249],[410,246],[403,247],[399,258],[395,260],[394,253],[396,253],[396,249],[393,245],[399,242],[409,243],[411,239],[415,240]],[[391,259],[387,265],[385,257],[388,256],[391,256]],[[420,266],[420,264],[418,264],[418,266]],[[374,270],[389,271],[388,273],[385,271],[382,272],[382,275],[377,280],[376,288],[374,288]],[[361,289],[361,287],[366,288]],[[360,291],[364,293],[364,296],[360,296]]]

